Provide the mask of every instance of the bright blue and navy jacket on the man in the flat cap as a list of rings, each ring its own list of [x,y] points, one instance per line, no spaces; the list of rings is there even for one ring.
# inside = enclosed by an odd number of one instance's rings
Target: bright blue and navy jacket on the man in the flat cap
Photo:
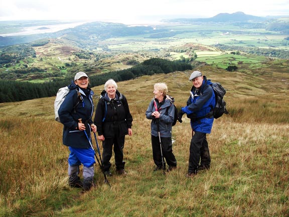
[[[206,76],[203,76],[203,84],[199,89],[192,87],[191,95],[187,101],[187,106],[182,107],[182,111],[186,113],[191,118],[191,127],[195,132],[202,132],[210,134],[214,118],[202,118],[206,116],[209,112],[212,111],[212,108],[215,107],[215,93],[211,87],[211,80],[207,80]]]

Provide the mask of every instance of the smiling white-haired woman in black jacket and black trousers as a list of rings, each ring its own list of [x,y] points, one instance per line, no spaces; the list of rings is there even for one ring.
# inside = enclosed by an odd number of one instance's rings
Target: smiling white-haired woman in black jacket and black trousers
[[[104,84],[96,107],[94,124],[97,127],[98,139],[102,141],[102,165],[105,174],[112,175],[110,171],[112,147],[116,173],[126,174],[123,147],[125,135],[132,135],[132,116],[125,96],[117,90],[117,84],[113,79]]]

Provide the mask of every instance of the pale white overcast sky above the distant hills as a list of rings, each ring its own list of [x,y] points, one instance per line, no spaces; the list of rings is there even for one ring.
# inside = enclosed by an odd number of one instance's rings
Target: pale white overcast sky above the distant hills
[[[219,13],[289,16],[287,0],[1,0],[0,21],[104,20],[124,24],[166,18],[209,18]]]

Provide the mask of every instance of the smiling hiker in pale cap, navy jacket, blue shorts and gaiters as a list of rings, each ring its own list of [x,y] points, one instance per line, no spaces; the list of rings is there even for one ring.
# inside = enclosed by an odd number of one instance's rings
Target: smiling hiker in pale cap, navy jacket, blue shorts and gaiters
[[[89,190],[93,186],[94,150],[84,133],[90,139],[91,130],[96,132],[93,124],[93,91],[88,87],[88,76],[84,72],[76,73],[74,81],[68,86],[69,92],[62,102],[58,114],[63,127],[63,144],[68,146],[69,184]],[[83,182],[79,177],[79,166],[83,164]]]

